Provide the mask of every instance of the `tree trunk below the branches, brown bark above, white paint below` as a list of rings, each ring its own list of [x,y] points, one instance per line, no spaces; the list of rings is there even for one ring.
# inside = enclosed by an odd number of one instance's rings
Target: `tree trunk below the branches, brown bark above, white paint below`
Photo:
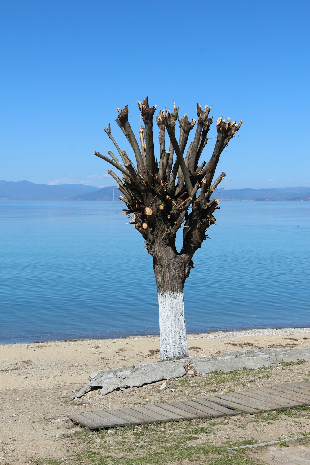
[[[159,306],[160,360],[176,360],[188,357],[184,317],[183,289],[186,279],[183,256],[159,245],[154,258]]]

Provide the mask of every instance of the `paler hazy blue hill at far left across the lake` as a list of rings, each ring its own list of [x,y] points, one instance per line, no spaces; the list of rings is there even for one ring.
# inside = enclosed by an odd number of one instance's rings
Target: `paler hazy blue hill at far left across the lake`
[[[99,190],[99,187],[84,184],[48,186],[29,181],[0,181],[0,200],[68,200]]]

